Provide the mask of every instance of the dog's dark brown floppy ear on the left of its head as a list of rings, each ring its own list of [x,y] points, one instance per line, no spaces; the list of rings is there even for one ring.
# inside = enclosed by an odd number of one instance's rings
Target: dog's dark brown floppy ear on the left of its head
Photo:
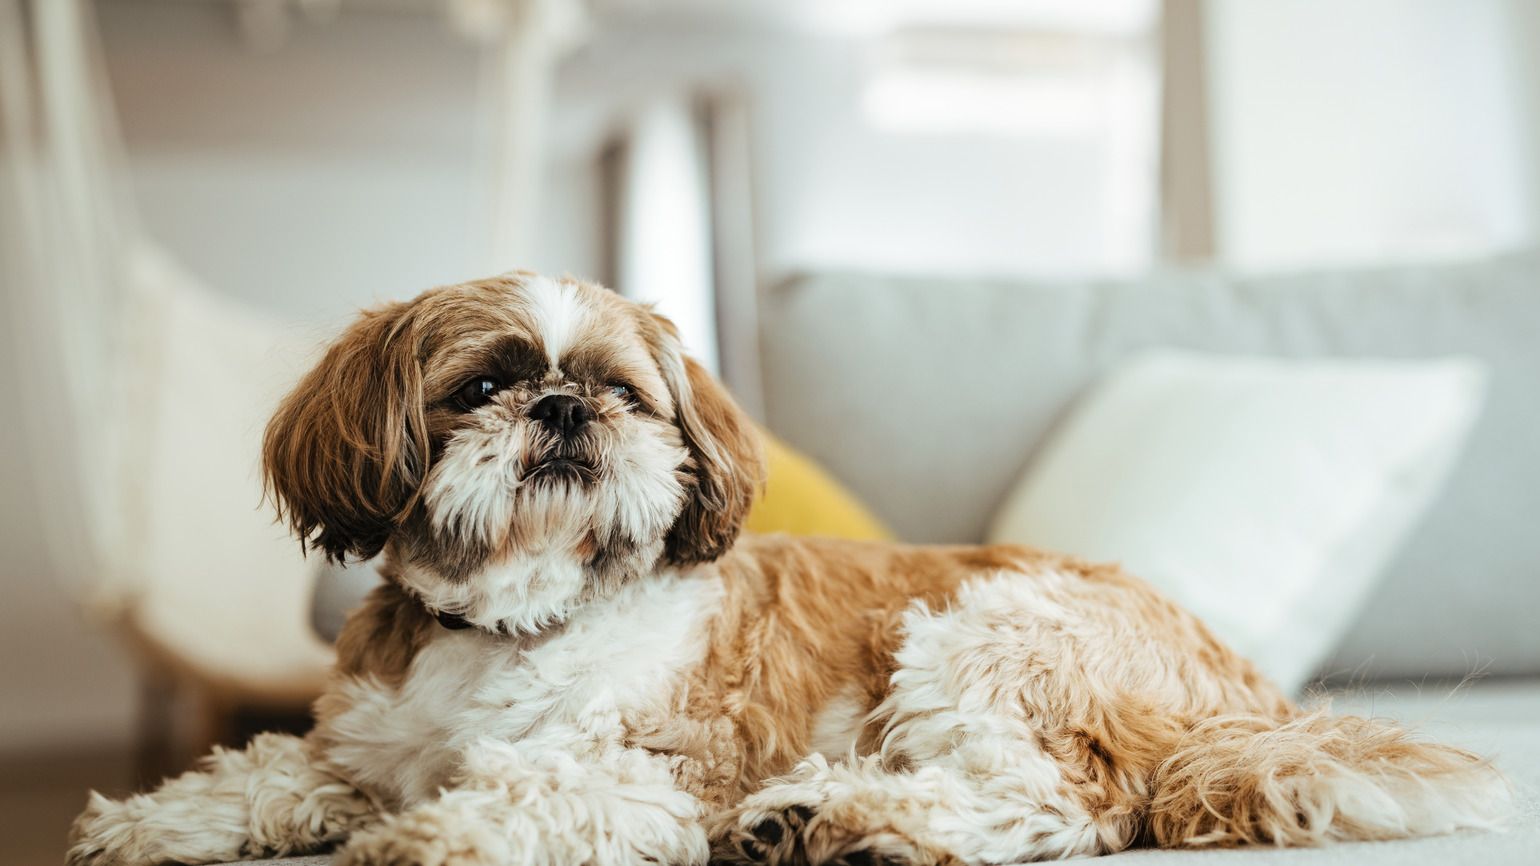
[[[374,556],[416,504],[430,456],[420,353],[411,305],[368,310],[268,422],[265,488],[306,550]]]

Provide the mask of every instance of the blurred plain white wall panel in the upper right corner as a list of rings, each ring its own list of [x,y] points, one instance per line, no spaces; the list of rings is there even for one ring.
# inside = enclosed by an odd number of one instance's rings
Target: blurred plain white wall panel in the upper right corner
[[[1214,0],[1218,257],[1247,270],[1534,237],[1509,0]]]

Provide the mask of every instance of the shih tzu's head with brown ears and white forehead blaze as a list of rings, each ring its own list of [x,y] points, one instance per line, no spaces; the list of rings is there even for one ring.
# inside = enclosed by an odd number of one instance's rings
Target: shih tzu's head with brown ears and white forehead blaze
[[[732,545],[753,425],[673,325],[534,274],[365,313],[279,407],[279,512],[328,558],[390,549],[431,607],[533,630]]]

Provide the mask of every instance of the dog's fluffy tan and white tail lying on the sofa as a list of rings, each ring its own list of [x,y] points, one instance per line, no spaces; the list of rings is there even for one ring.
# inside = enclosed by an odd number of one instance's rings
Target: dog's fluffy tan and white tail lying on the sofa
[[[1471,752],[1380,720],[1226,715],[1192,727],[1155,770],[1163,848],[1309,846],[1494,827],[1512,790]]]

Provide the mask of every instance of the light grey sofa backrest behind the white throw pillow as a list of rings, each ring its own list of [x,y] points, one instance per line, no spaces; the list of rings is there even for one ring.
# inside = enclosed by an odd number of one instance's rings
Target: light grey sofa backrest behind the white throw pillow
[[[981,539],[1044,431],[1140,350],[1481,357],[1468,453],[1327,672],[1540,672],[1537,253],[1250,279],[818,274],[773,290],[761,324],[770,427],[912,541]]]

